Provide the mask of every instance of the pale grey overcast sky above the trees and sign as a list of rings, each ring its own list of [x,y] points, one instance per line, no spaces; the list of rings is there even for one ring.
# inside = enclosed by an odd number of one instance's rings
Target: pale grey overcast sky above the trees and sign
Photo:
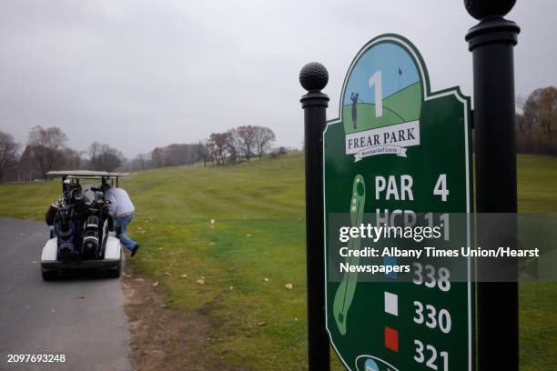
[[[557,2],[518,0],[516,92],[557,85]],[[476,24],[450,0],[2,0],[0,130],[23,144],[33,125],[60,126],[127,157],[265,125],[277,145],[302,143],[299,69],[329,69],[329,118],[360,47],[397,33],[419,49],[433,90],[472,94],[464,41]]]

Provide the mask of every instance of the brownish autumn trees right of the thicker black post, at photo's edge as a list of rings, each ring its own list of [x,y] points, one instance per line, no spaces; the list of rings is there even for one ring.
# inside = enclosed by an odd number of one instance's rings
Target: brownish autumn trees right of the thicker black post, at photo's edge
[[[557,88],[536,89],[517,106],[522,111],[516,117],[518,152],[557,155]]]

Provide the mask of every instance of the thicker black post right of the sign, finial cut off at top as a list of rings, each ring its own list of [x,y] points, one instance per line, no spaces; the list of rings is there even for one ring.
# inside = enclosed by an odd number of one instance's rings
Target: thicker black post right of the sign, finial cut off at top
[[[503,18],[514,3],[515,0],[464,1],[468,12],[480,20],[466,35],[474,71],[477,213],[517,212],[513,46],[517,44],[520,28]],[[493,242],[494,231],[477,227],[479,246]],[[507,232],[512,236],[511,244],[515,243],[515,222],[511,222]],[[500,275],[494,276],[493,270],[493,264],[480,261],[479,279],[494,277],[500,282],[484,281],[477,285],[478,368],[518,371],[516,260],[501,261],[495,269],[501,270]],[[493,346],[504,349],[504,356]]]

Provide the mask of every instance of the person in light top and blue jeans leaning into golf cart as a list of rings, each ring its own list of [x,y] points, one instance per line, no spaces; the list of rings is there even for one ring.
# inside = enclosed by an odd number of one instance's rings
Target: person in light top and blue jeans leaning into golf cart
[[[134,211],[136,211],[134,204],[127,195],[126,190],[122,188],[114,188],[110,185],[103,185],[102,190],[105,194],[105,199],[110,201],[108,204],[108,211],[114,216],[116,230],[119,230],[118,237],[122,245],[131,251],[131,255],[135,256],[139,249],[139,244],[127,236],[127,225],[129,225],[134,218]]]

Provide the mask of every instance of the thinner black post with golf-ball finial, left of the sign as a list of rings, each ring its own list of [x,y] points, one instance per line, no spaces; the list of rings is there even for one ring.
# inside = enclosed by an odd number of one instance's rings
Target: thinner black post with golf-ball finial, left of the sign
[[[323,141],[329,96],[321,90],[329,82],[324,65],[309,63],[299,73],[308,94],[304,109],[306,152],[306,265],[308,276],[309,371],[329,371],[329,336],[325,329],[325,256],[323,225]]]

